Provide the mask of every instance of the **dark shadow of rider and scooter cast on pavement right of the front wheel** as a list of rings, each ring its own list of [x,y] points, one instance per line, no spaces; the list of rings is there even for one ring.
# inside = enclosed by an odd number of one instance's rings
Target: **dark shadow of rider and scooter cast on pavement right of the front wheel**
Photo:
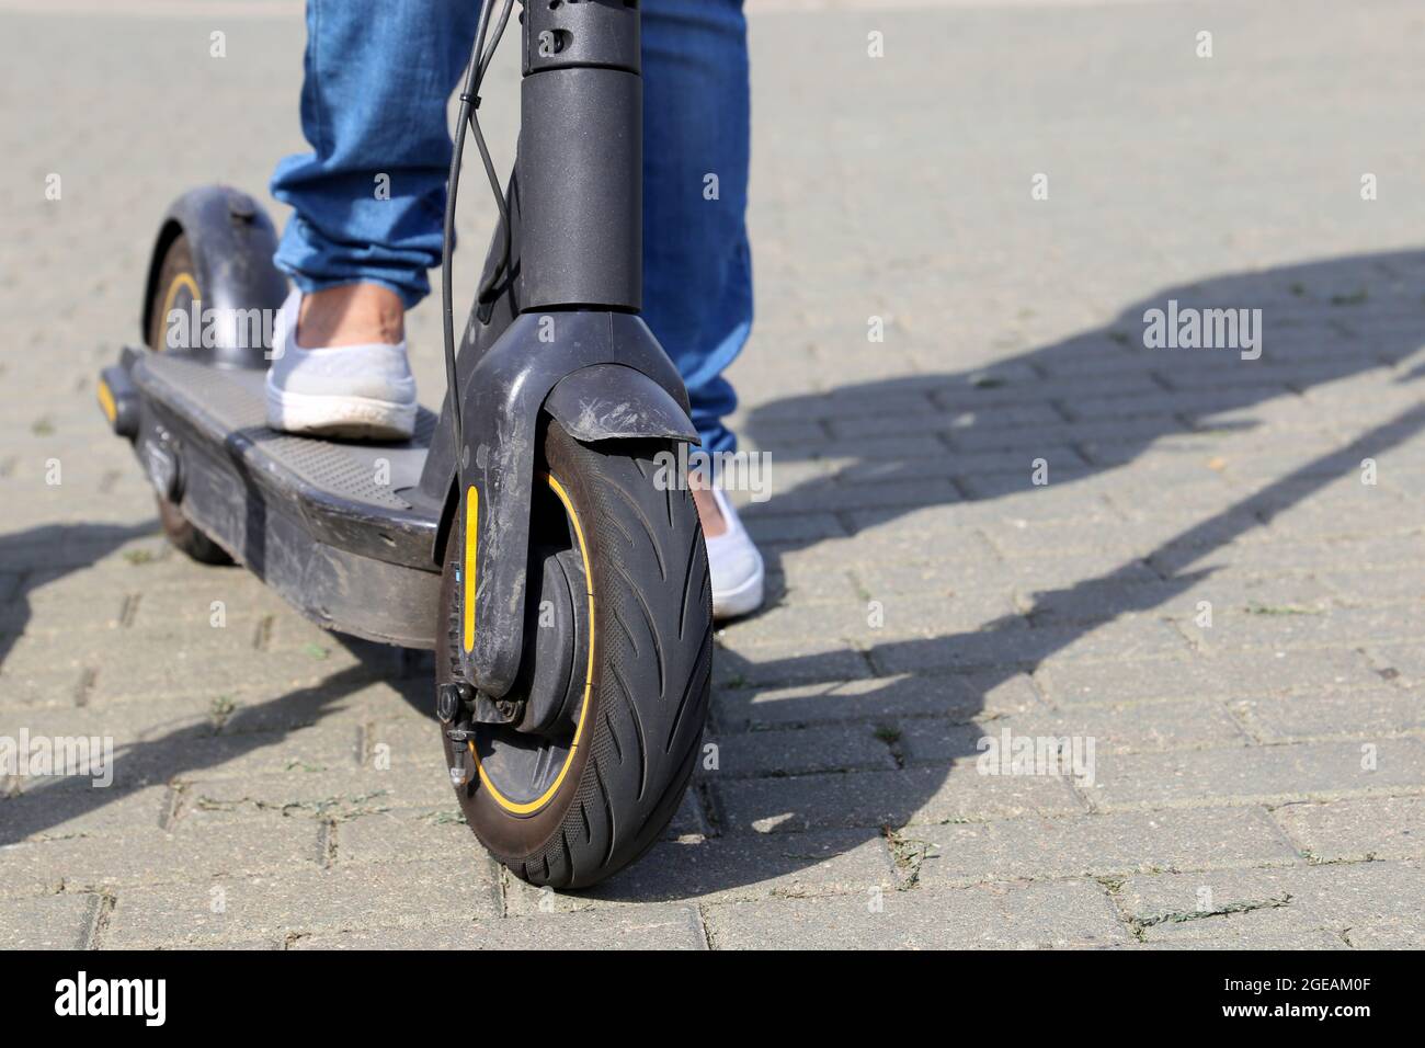
[[[774,492],[765,508],[755,506],[747,515],[750,529],[754,535],[775,536],[771,540],[764,538],[770,577],[778,583],[774,593],[795,605],[795,592],[785,592],[782,559],[822,540],[815,532],[799,536],[795,528],[784,526],[779,519],[784,513],[832,515],[854,538],[926,506],[990,502],[1032,490],[1029,462],[1036,435],[1046,445],[1059,443],[1063,438],[1054,431],[1064,426],[1079,425],[1083,432],[1092,432],[1094,423],[1106,423],[1099,446],[1083,438],[1070,445],[1077,448],[1082,461],[1070,469],[1056,471],[1056,488],[1126,466],[1161,438],[1255,428],[1260,421],[1253,418],[1251,409],[1268,399],[1301,394],[1368,369],[1394,366],[1425,345],[1422,287],[1425,252],[1359,255],[1231,274],[1164,289],[1129,307],[1110,325],[983,371],[868,382],[758,406],[750,412],[745,429],[758,448],[772,452],[774,478],[778,461],[812,463],[821,453],[819,445],[814,446],[804,436],[784,436],[804,433],[808,422],[821,426],[845,458],[848,453],[844,449],[854,443],[848,439],[851,435],[874,435],[885,419],[895,422],[898,412],[913,411],[916,419],[925,419],[925,431],[943,425],[948,413],[955,416],[955,429],[940,461],[868,451],[789,490]],[[1140,348],[1144,311],[1166,308],[1168,299],[1177,299],[1180,307],[1263,308],[1265,348],[1261,359],[1243,361],[1237,352],[1221,349]],[[1093,374],[1076,378],[1079,362],[1089,364],[1090,358]],[[1114,359],[1126,365],[1123,374],[1114,374]],[[1396,381],[1408,382],[1419,371],[1408,371]],[[1136,388],[1130,378],[1133,372],[1147,375],[1156,392]],[[1134,399],[1171,398],[1178,391],[1181,396],[1164,401],[1161,406],[1146,404],[1141,411],[1134,408]],[[842,408],[849,409],[845,416],[838,413]],[[1050,412],[1060,422],[1026,422],[1019,428],[1017,436],[1009,442],[1023,449],[1023,469],[1019,472],[956,475],[956,456],[975,455],[978,449],[993,451],[996,432],[1015,432],[1013,425],[993,428],[1000,411],[1020,412],[1023,418],[1049,418],[1045,412]],[[808,687],[804,696],[778,694],[778,730],[845,720],[869,731],[886,721],[905,723],[898,710],[911,703],[902,699],[908,700],[912,689],[923,693],[926,682],[931,682],[932,687],[943,686],[945,711],[939,720],[950,727],[950,753],[936,761],[903,764],[899,770],[815,773],[809,776],[811,788],[797,788],[795,776],[735,780],[718,771],[704,771],[695,788],[708,803],[714,840],[705,846],[660,844],[646,860],[590,894],[610,900],[671,901],[714,893],[737,898],[740,888],[758,884],[765,888],[767,883],[778,878],[785,878],[791,887],[808,867],[862,847],[886,830],[906,826],[945,786],[955,766],[972,764],[979,756],[976,741],[982,731],[976,719],[985,713],[986,694],[1016,674],[1033,673],[1056,652],[1104,623],[1151,612],[1196,586],[1213,569],[1193,570],[1194,563],[1352,473],[1362,458],[1378,456],[1419,433],[1425,429],[1425,406],[1409,406],[1368,429],[1367,419],[1347,422],[1352,423],[1349,432],[1359,436],[1206,516],[1151,552],[1127,558],[1102,575],[1036,592],[1036,607],[1059,612],[1052,629],[1040,627],[1026,616],[1005,615],[976,630],[892,640],[861,652],[874,670],[963,666],[965,672],[875,676],[859,682],[862,687],[854,694],[828,694],[834,682],[846,677],[841,659],[845,653],[758,659],[755,646],[744,646],[738,653],[721,650],[718,680],[757,682],[751,689],[721,689],[715,696],[714,724],[724,729],[717,736],[722,749],[737,744],[737,734],[728,734],[727,729],[737,731],[745,727],[751,700],[785,684],[822,682],[826,687]],[[912,423],[906,432],[915,429]],[[1030,435],[1027,443],[1023,441],[1026,433]],[[868,443],[868,448],[878,446],[893,445]],[[928,475],[949,478],[953,482],[952,498],[938,496],[935,485],[926,483]],[[891,481],[906,482],[896,490],[898,502],[865,506],[874,498],[868,495],[868,482]],[[916,483],[926,490],[923,498],[906,495],[905,489]],[[1139,492],[1134,498],[1156,498],[1163,506],[1173,503],[1171,488],[1156,496],[1144,496],[1143,485],[1134,490]],[[1025,499],[1020,499],[1015,515],[1032,512],[1023,503]],[[838,510],[844,506],[865,508]],[[1116,585],[1141,582],[1146,570],[1151,570],[1160,585]],[[886,596],[888,600],[895,599],[895,593]],[[864,613],[864,602],[859,610]],[[1009,662],[1003,652],[1013,652]],[[846,764],[854,766],[855,760],[854,754],[846,756]],[[824,764],[835,767],[836,761],[832,759]],[[784,786],[788,788],[779,788]],[[735,796],[735,803],[727,803],[730,796]],[[758,833],[768,827],[771,833]],[[778,833],[781,830],[812,833]]]

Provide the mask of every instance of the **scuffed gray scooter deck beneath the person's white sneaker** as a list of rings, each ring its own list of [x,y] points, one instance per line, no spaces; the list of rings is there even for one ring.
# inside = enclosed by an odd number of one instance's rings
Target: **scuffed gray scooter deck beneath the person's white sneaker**
[[[319,625],[435,644],[440,508],[418,486],[432,412],[420,409],[408,442],[294,436],[266,426],[262,371],[127,359],[144,415],[135,451],[150,475],[155,449],[177,462],[184,516]]]

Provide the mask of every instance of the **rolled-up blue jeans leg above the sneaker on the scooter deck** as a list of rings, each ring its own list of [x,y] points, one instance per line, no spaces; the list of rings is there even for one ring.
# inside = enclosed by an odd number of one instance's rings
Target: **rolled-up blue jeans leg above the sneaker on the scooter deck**
[[[408,308],[430,292],[452,150],[446,103],[479,7],[308,0],[302,134],[314,151],[272,175],[272,195],[294,208],[276,264],[302,291],[368,281]]]

